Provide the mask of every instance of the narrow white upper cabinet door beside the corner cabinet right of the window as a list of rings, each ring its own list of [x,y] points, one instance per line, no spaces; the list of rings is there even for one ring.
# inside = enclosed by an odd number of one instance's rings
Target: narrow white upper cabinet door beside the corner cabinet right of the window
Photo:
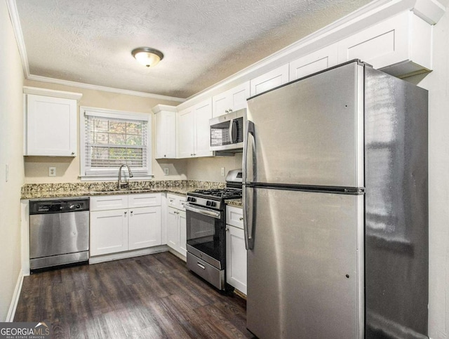
[[[177,157],[194,156],[194,112],[193,108],[184,109],[177,116]]]

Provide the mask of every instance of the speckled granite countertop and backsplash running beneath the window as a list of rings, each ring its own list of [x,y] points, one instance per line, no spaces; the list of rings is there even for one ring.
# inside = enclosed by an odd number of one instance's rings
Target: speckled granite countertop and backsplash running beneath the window
[[[112,194],[138,194],[168,192],[185,195],[198,189],[223,188],[225,182],[196,180],[145,180],[130,181],[125,190],[116,190],[116,182],[65,182],[54,184],[25,184],[21,199],[94,197]]]

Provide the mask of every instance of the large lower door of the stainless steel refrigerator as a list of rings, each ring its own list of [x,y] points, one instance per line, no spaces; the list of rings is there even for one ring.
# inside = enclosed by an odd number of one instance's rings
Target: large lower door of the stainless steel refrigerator
[[[246,190],[248,329],[261,339],[363,338],[363,195]]]

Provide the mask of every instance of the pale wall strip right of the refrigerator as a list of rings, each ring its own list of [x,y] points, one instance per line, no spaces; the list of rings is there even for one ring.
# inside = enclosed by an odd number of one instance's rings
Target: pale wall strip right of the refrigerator
[[[449,11],[434,26],[429,90],[429,336],[449,338]]]

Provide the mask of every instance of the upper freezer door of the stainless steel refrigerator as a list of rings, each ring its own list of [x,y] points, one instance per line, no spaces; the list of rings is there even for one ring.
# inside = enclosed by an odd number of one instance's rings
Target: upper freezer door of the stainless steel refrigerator
[[[250,98],[248,121],[246,182],[363,187],[362,64]]]

